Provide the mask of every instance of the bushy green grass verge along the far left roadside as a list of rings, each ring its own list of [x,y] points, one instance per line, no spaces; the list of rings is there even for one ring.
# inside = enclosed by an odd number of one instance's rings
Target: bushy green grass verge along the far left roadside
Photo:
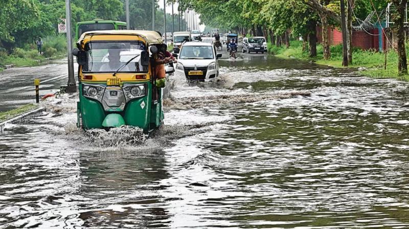
[[[42,52],[42,55],[38,54],[37,47],[34,43],[26,44],[24,47],[15,48],[11,54],[0,48],[0,66],[8,64],[15,64],[16,66],[34,66],[38,65],[38,62],[35,60],[43,60],[47,57],[65,54],[65,36],[44,38]]]

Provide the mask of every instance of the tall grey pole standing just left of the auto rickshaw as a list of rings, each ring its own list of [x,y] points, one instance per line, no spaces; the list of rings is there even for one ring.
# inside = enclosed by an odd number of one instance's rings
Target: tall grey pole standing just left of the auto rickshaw
[[[65,27],[67,30],[67,59],[68,59],[68,82],[65,90],[67,93],[75,93],[77,85],[74,78],[73,36],[71,35],[71,1],[65,0]]]

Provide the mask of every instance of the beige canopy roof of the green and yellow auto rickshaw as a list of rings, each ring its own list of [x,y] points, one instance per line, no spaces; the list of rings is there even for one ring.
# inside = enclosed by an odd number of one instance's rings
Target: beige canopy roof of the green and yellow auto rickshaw
[[[137,35],[142,37],[149,45],[162,44],[162,36],[156,31],[149,30],[101,30],[101,31],[88,31],[81,35],[77,44],[80,45],[82,40],[87,36],[94,35]]]

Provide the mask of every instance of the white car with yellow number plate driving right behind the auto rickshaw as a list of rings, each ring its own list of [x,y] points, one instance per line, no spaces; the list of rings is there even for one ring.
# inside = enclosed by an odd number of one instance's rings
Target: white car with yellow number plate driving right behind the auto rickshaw
[[[220,57],[213,44],[186,42],[180,48],[174,74],[189,81],[212,81],[219,76]]]

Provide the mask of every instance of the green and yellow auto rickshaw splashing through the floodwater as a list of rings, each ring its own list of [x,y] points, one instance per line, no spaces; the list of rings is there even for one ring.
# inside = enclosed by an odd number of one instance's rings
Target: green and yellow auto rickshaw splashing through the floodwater
[[[73,50],[79,64],[78,127],[129,125],[144,132],[160,127],[164,120],[162,88],[155,84],[153,56],[162,43],[161,34],[155,31],[82,34]]]

